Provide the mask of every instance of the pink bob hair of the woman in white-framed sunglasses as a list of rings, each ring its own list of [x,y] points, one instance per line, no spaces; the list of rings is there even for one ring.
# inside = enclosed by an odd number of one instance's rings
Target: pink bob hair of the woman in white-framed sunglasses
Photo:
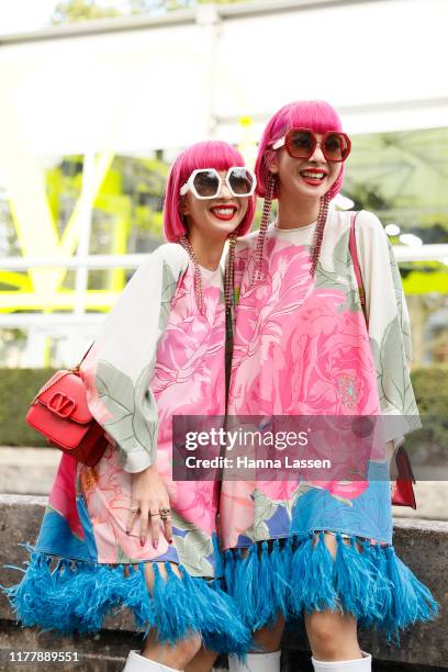
[[[179,192],[193,170],[228,170],[232,166],[245,166],[245,160],[239,152],[222,141],[197,143],[177,157],[168,176],[164,204],[164,235],[169,243],[177,243],[188,233],[179,212]],[[235,232],[238,236],[244,236],[249,231],[254,212],[255,197],[250,197],[245,217]]]

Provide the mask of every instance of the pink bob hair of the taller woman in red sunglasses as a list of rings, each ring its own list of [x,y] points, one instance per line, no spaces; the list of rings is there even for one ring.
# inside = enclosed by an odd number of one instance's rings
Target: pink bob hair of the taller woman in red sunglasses
[[[265,198],[268,183],[269,169],[268,160],[275,154],[275,149],[269,149],[270,143],[282,137],[293,127],[312,128],[315,133],[325,131],[343,131],[340,119],[334,108],[323,100],[303,100],[289,103],[279,110],[268,122],[262,134],[258,148],[255,173],[257,176],[257,193]],[[328,191],[333,199],[339,193],[344,180],[344,164],[336,182]],[[273,194],[277,198],[277,193]]]

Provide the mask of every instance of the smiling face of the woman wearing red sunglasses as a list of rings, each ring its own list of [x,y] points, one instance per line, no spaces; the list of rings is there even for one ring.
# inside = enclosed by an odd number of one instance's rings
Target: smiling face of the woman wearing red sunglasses
[[[323,135],[316,133],[316,138],[318,142],[310,158],[293,158],[281,147],[268,161],[269,170],[278,176],[279,199],[318,200],[336,182],[341,164],[327,161],[318,144]]]

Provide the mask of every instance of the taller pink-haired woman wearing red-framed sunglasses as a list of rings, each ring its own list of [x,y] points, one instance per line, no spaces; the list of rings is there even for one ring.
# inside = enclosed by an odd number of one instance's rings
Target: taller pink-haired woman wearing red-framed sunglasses
[[[304,619],[316,672],[361,672],[371,656],[358,624],[390,641],[437,613],[392,546],[388,456],[421,422],[388,236],[374,214],[329,206],[350,146],[326,102],[277,112],[256,163],[260,231],[236,246],[227,427],[255,416],[258,445],[271,446],[257,458],[276,458],[221,491],[226,590],[265,649],[248,654],[250,672],[280,670],[288,619]]]

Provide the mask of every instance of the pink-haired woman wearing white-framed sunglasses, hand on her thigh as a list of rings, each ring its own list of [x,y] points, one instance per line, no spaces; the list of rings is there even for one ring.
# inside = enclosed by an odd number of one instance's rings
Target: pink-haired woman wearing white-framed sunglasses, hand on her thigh
[[[146,640],[126,672],[204,672],[215,652],[244,658],[250,643],[220,587],[219,484],[173,480],[171,467],[173,416],[225,414],[233,251],[255,184],[223,142],[176,159],[168,243],[134,273],[80,368],[109,445],[94,467],[63,455],[29,568],[7,590],[22,625],[64,634],[97,632],[128,607]]]

